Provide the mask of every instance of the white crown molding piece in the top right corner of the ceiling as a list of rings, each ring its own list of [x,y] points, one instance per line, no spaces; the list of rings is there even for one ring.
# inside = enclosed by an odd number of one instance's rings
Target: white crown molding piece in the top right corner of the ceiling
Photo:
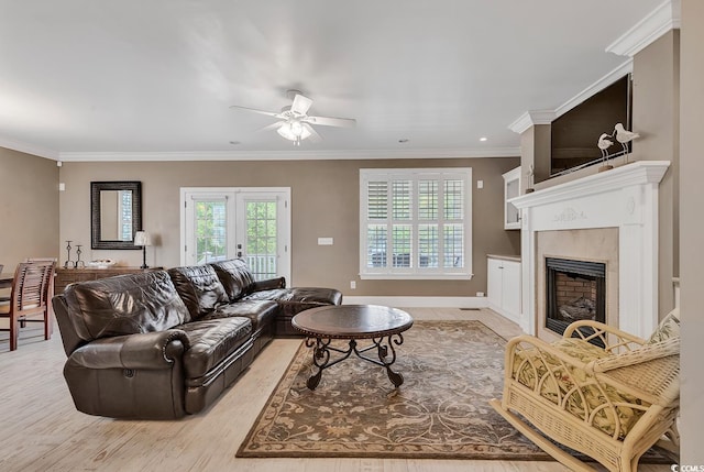
[[[680,23],[680,0],[667,0],[606,46],[606,52],[632,57],[668,31],[679,29]]]

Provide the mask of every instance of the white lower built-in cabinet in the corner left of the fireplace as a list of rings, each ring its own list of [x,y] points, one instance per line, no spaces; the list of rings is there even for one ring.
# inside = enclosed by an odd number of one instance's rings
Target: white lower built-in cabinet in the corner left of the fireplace
[[[490,255],[486,261],[488,307],[520,323],[520,260]]]

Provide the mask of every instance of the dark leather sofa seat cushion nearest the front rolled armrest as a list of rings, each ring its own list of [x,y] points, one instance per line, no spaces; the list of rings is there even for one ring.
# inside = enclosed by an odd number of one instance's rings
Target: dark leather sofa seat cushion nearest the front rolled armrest
[[[244,344],[252,332],[249,318],[233,317],[191,321],[178,327],[186,332],[190,349],[184,353],[186,377],[198,378]]]

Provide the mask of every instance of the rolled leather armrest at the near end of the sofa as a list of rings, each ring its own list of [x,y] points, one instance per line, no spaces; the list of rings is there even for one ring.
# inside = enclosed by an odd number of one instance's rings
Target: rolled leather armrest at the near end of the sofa
[[[97,339],[75,350],[69,362],[85,369],[170,369],[188,348],[186,333],[169,329]]]

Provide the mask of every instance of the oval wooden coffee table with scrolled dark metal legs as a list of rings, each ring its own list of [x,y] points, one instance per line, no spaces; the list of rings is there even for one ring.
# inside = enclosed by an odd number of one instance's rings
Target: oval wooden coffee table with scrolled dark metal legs
[[[402,332],[413,323],[414,319],[406,311],[377,305],[332,305],[299,312],[292,319],[292,325],[308,337],[306,345],[314,348],[312,362],[318,367],[306,385],[311,391],[316,389],[323,370],[344,361],[354,352],[360,359],[385,367],[388,380],[394,386],[399,386],[404,383],[404,376],[391,367],[396,362],[394,344],[403,344]],[[349,349],[330,345],[333,339],[349,339]],[[358,339],[370,339],[372,345],[358,349]],[[373,349],[376,349],[378,359],[364,355]],[[331,352],[342,355],[333,360]]]

